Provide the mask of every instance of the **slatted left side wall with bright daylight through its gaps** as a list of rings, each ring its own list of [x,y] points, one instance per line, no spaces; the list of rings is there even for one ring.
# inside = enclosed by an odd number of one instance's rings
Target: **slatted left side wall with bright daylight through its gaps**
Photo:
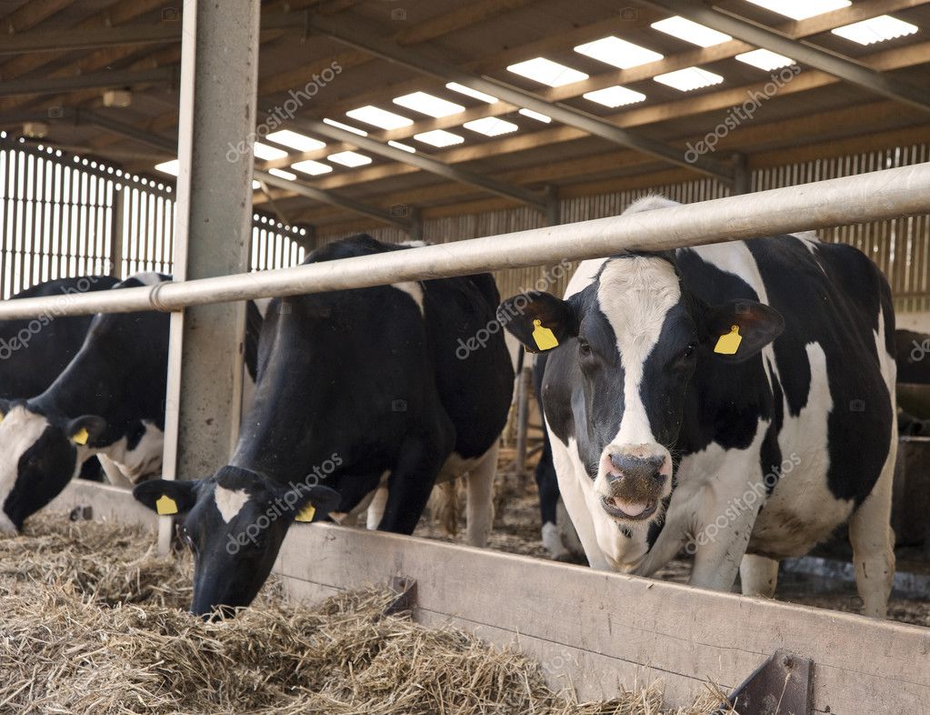
[[[302,260],[298,229],[253,218],[253,270]],[[169,274],[173,250],[171,186],[0,137],[0,298],[57,277]]]

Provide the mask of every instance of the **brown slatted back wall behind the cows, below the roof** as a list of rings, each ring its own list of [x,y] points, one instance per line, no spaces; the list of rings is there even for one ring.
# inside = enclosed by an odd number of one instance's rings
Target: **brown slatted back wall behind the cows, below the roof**
[[[799,183],[817,182],[841,176],[891,169],[930,161],[930,144],[899,147],[882,152],[818,159],[777,169],[756,170],[752,175],[753,191],[763,191]],[[650,193],[659,193],[675,201],[690,204],[729,196],[729,189],[712,179],[676,183],[630,191],[582,196],[561,202],[562,221],[570,223],[616,216],[632,201]],[[533,209],[489,211],[478,215],[429,220],[423,223],[423,236],[433,243],[445,243],[479,236],[522,231],[545,225],[542,214]],[[385,241],[405,240],[397,228],[381,228],[372,236]],[[843,226],[819,232],[821,240],[849,243],[865,252],[888,277],[899,312],[930,311],[930,216],[916,216],[893,221]],[[320,241],[339,236],[321,236]],[[496,274],[502,296],[510,296],[538,281],[549,284],[546,290],[559,293],[567,278],[552,281],[553,266],[521,268]],[[569,276],[570,276],[569,272]]]

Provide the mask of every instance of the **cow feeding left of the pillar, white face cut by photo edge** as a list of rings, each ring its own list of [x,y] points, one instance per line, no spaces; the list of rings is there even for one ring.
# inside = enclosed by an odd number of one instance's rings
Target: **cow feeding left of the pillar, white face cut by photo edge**
[[[170,279],[144,273],[113,290]],[[250,312],[257,312],[252,304]],[[20,531],[92,455],[112,460],[133,482],[161,470],[169,317],[156,311],[95,316],[80,350],[45,391],[0,399],[0,532]],[[251,340],[246,334],[253,374],[260,326],[254,318]]]

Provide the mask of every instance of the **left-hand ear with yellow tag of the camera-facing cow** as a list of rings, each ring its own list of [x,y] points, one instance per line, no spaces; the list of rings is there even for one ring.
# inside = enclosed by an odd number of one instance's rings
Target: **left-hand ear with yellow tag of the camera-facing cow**
[[[578,336],[572,305],[550,293],[531,290],[498,307],[498,320],[531,353],[545,353]]]

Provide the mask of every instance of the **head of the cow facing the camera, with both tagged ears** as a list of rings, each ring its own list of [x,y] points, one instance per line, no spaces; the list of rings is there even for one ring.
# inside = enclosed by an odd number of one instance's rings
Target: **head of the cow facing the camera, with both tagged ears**
[[[567,301],[515,296],[498,318],[531,352],[573,352],[570,375],[584,404],[572,410],[592,445],[586,468],[601,512],[593,516],[628,526],[661,518],[685,388],[700,361],[747,360],[784,328],[764,304],[701,303],[683,289],[670,257],[649,254],[607,261]]]

